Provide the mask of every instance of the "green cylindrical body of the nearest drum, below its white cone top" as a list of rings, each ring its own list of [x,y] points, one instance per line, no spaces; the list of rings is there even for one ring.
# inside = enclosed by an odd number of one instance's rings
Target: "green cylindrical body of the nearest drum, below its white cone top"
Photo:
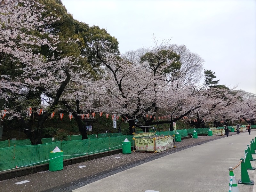
[[[63,151],[56,153],[51,151],[49,157],[49,171],[60,171],[63,169]]]

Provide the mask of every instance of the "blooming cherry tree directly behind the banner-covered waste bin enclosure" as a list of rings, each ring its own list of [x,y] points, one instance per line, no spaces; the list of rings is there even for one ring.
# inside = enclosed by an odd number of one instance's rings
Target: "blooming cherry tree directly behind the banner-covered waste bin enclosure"
[[[103,107],[107,106],[108,110],[120,114],[129,123],[130,134],[135,119],[146,117],[150,113],[153,116],[150,120],[145,119],[145,125],[156,124],[153,122],[154,115],[159,108],[164,108],[164,101],[170,101],[171,96],[184,95],[186,84],[187,87],[194,84],[185,78],[188,70],[181,70],[183,64],[179,61],[180,56],[165,48],[167,47],[156,46],[148,50],[141,49],[139,54],[128,52],[121,59],[115,55],[98,55],[108,74],[103,85],[105,89],[102,90],[109,93],[106,99],[109,102]],[[202,62],[203,60],[198,65],[198,70],[202,69]],[[190,109],[186,112],[188,111]]]

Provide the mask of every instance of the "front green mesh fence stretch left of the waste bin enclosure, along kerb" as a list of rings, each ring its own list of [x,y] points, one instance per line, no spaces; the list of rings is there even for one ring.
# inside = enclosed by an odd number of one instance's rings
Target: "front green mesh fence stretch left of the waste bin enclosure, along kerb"
[[[55,141],[40,145],[19,146],[15,144],[15,146],[0,148],[0,171],[13,169],[16,166],[32,166],[47,163],[49,162],[50,151],[56,146],[63,150],[64,159],[70,159],[86,154],[120,149],[125,138],[132,141],[132,135],[124,135],[100,139]]]

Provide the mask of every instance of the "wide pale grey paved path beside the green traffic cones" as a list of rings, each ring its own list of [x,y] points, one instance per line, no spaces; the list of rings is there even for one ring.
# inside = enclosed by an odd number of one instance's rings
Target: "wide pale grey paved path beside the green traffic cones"
[[[244,157],[246,145],[254,138],[248,132],[187,148],[138,165],[123,172],[89,183],[74,192],[206,192],[228,191],[229,167]],[[256,155],[253,155],[256,158]],[[255,167],[255,161],[251,161]],[[241,179],[241,166],[234,170],[236,182]],[[255,170],[248,170],[254,180]],[[256,184],[255,184],[256,185]],[[256,187],[238,184],[240,192]]]

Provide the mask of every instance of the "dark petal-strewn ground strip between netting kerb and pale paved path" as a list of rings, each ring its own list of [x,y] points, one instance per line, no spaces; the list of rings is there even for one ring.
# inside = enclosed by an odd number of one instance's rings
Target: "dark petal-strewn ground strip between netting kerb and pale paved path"
[[[230,132],[229,135],[236,136],[236,132]],[[45,171],[4,180],[0,181],[0,191],[68,192],[131,167],[223,137],[226,136],[198,136],[198,139],[190,138],[182,140],[181,142],[175,142],[176,148],[171,148],[159,153],[132,152],[131,154],[125,155],[120,153],[65,166],[63,167],[63,170],[57,172]],[[78,168],[78,166],[82,165],[85,165],[86,167]],[[29,180],[30,182],[22,185],[14,184],[23,180]]]

